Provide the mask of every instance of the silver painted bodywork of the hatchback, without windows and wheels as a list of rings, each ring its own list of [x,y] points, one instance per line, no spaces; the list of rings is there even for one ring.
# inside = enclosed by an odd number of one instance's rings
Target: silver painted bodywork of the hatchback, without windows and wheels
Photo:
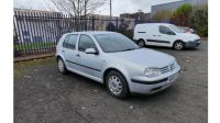
[[[169,81],[169,78],[174,75],[178,75],[180,66],[170,55],[147,48],[139,48],[118,53],[105,53],[94,35],[110,33],[114,34],[114,32],[75,32],[64,34],[57,44],[56,56],[59,56],[65,60],[65,65],[69,71],[79,74],[101,83],[105,81],[103,75],[108,69],[117,69],[127,79],[131,92],[154,93],[169,87],[175,81]],[[89,35],[96,44],[99,54],[95,55],[79,52],[78,41],[75,49],[65,49],[62,44],[65,37],[69,34],[78,34],[79,36],[80,34]],[[170,64],[175,64],[175,69],[169,72],[153,78],[148,78],[144,75],[145,68],[163,68],[165,66],[169,66]],[[132,80],[146,82],[146,85],[138,83]],[[154,81],[158,80],[162,81],[160,83],[154,83]],[[152,81],[153,85],[147,85],[147,81]],[[156,90],[152,91],[152,89]]]

